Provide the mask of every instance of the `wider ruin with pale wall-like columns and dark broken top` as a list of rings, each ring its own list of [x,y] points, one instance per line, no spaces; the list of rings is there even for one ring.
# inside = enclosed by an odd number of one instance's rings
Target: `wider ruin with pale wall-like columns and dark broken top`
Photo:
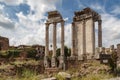
[[[95,22],[98,22],[98,47],[102,47],[101,16],[90,8],[75,12],[72,23],[72,54],[78,60],[95,54]]]

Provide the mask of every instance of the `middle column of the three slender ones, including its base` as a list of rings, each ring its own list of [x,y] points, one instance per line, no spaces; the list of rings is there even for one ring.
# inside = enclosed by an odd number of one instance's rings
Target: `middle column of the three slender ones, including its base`
[[[51,60],[51,66],[56,67],[56,23],[53,23],[53,54]]]

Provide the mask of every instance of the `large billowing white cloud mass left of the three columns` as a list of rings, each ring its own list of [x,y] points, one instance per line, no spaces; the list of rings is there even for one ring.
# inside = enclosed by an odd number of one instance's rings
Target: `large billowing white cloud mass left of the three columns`
[[[3,0],[1,0],[3,1]],[[19,4],[10,2],[9,0],[5,0],[5,3],[9,5]],[[58,0],[26,0],[26,4],[30,6],[31,11],[35,11],[35,14],[28,14],[25,16],[22,12],[17,13],[19,22],[14,23],[14,30],[6,30],[4,27],[1,28],[1,35],[9,37],[10,45],[20,45],[20,44],[41,44],[44,45],[45,41],[45,22],[41,21],[41,19],[46,19],[45,13],[50,10],[56,9],[56,2]],[[3,14],[0,16],[0,21],[4,23],[11,23],[11,20],[7,17],[3,17]],[[40,21],[40,22],[39,22]],[[10,27],[10,25],[6,25]],[[5,33],[5,31],[7,31]]]

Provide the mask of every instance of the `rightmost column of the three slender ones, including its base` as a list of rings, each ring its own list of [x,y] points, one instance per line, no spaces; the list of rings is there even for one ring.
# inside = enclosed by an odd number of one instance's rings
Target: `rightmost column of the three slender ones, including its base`
[[[65,56],[64,56],[64,21],[61,22],[61,54],[59,68],[65,70]]]

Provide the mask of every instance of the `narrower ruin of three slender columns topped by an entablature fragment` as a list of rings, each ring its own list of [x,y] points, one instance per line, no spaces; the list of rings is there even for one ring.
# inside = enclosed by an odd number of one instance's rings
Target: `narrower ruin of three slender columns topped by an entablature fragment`
[[[56,25],[61,23],[61,54],[59,58],[59,65],[57,66],[56,57]],[[53,24],[53,54],[51,62],[48,62],[49,53],[49,26]],[[45,45],[45,56],[44,56],[44,66],[45,68],[64,68],[64,20],[58,11],[48,12],[48,20],[46,22],[46,45]]]

